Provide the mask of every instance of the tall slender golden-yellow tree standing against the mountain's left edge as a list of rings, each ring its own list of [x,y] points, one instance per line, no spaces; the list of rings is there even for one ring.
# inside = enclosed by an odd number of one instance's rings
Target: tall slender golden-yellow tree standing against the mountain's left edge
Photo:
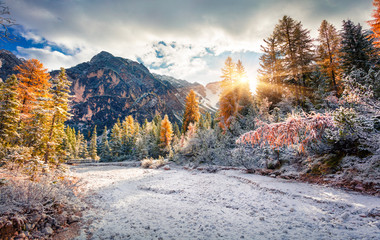
[[[64,68],[57,78],[52,79],[50,95],[50,108],[52,119],[50,120],[50,127],[48,132],[48,139],[45,150],[45,163],[49,161],[51,153],[56,155],[62,160],[64,153],[62,152],[62,141],[64,137],[64,123],[69,119],[69,93],[71,82],[67,80]],[[57,160],[59,160],[57,159]]]

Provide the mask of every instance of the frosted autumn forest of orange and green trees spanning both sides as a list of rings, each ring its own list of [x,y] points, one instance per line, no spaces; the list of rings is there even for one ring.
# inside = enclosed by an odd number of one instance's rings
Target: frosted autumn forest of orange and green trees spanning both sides
[[[284,16],[263,39],[254,92],[244,63],[228,57],[220,66],[217,113],[200,111],[191,90],[181,123],[167,115],[144,122],[126,116],[86,136],[65,124],[72,114],[65,69],[51,78],[39,60],[24,61],[0,82],[1,234],[15,234],[7,221],[17,232],[41,210],[56,221],[62,211],[75,215],[77,179],[65,163],[77,159],[140,161],[144,168],[243,167],[302,181],[336,180],[335,186],[378,195],[380,1],[368,18],[370,29],[324,20],[312,39],[301,21]],[[59,221],[57,229],[77,219]],[[53,227],[28,228],[43,228],[38,231],[46,236]]]

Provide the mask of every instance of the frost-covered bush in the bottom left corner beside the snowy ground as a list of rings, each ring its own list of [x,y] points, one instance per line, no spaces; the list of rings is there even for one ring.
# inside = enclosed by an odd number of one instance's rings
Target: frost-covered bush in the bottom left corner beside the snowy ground
[[[0,170],[0,235],[50,239],[54,231],[79,221],[82,203],[75,195],[75,179],[40,175],[30,181],[24,174]]]

